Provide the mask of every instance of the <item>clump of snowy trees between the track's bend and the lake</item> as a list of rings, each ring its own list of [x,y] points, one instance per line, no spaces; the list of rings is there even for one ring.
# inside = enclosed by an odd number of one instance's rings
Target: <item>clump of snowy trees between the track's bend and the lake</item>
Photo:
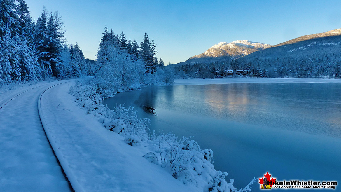
[[[145,33],[143,41],[119,36],[105,27],[97,52],[97,60],[90,70],[95,76],[97,90],[110,97],[116,92],[138,89],[141,85],[172,83],[173,71],[158,61],[156,44]]]

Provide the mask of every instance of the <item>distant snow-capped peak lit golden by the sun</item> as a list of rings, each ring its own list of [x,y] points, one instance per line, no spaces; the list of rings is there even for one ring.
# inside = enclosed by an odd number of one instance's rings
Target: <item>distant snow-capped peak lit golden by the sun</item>
[[[205,53],[195,55],[189,58],[183,64],[194,63],[206,63],[215,61],[231,61],[238,57],[248,55],[258,50],[271,47],[272,45],[252,42],[248,40],[237,40],[231,43],[220,42],[217,45],[213,45]]]

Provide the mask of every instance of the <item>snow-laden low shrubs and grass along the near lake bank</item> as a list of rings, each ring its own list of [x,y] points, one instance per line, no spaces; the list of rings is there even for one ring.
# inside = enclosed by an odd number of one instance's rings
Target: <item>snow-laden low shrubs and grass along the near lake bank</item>
[[[250,191],[253,179],[244,189],[236,189],[233,179],[225,180],[226,172],[216,171],[213,166],[213,151],[202,150],[191,138],[178,138],[172,133],[155,133],[148,129],[149,119],[139,119],[133,107],[117,105],[110,110],[102,104],[103,97],[92,83],[77,82],[69,88],[76,97],[78,105],[94,117],[108,131],[124,138],[131,146],[143,146],[148,149],[144,155],[151,163],[165,168],[170,175],[188,185],[194,185],[203,191]]]

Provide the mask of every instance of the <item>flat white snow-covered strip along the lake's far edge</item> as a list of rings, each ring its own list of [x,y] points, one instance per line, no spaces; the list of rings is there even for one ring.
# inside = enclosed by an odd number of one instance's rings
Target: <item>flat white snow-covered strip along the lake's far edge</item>
[[[175,79],[173,85],[208,85],[232,83],[341,83],[341,79],[301,78],[216,78],[216,79]]]

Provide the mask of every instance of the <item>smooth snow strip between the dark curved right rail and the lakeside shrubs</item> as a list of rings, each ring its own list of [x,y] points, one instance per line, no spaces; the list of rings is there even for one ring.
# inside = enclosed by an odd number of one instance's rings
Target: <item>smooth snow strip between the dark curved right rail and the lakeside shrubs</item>
[[[85,114],[67,93],[71,85],[47,90],[42,113],[49,114],[45,116],[48,129],[72,169],[71,177],[84,191],[198,191],[145,159],[143,146],[128,145],[124,137]]]

